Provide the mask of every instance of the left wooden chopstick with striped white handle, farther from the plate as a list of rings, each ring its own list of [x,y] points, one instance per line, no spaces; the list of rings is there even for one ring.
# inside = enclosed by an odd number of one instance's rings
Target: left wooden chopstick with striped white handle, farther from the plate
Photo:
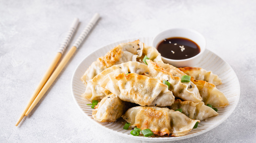
[[[59,62],[60,57],[62,56],[63,52],[65,51],[66,47],[69,44],[69,41],[71,40],[72,36],[74,35],[74,32],[77,28],[77,25],[79,23],[79,20],[77,18],[74,19],[68,34],[66,36],[66,38],[64,39],[63,43],[61,44],[59,51],[57,52],[57,55],[55,56],[55,58],[53,59],[50,67],[48,68],[48,70],[46,71],[46,73],[44,74],[43,78],[41,79],[40,83],[38,84],[38,86],[36,87],[32,97],[29,100],[29,103],[27,104],[26,108],[24,109],[24,111],[22,112],[20,118],[18,119],[17,123],[15,124],[15,126],[18,126],[19,123],[21,122],[21,120],[24,118],[26,112],[28,111],[29,107],[31,106],[31,104],[33,103],[34,99],[36,98],[36,96],[38,95],[38,93],[41,91],[41,89],[43,88],[43,86],[45,85],[45,83],[47,82],[47,80],[49,79],[49,77],[51,76],[51,74],[53,73],[54,68],[56,67],[57,63]]]

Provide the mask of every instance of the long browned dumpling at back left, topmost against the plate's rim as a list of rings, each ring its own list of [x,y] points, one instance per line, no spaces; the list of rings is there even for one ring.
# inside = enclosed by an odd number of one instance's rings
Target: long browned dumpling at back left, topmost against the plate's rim
[[[117,64],[128,61],[136,61],[136,58],[142,55],[143,43],[139,40],[121,43],[111,49],[105,56],[101,56],[94,61],[85,71],[81,80],[87,85],[90,79],[93,79],[101,71]]]

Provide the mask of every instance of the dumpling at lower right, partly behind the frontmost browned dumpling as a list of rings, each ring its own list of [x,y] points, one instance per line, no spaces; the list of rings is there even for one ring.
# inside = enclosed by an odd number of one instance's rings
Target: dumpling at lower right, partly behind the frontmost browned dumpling
[[[192,101],[175,100],[170,106],[171,109],[182,109],[182,113],[190,119],[204,120],[212,116],[218,115],[218,113],[211,107],[204,105],[203,102],[194,103]]]

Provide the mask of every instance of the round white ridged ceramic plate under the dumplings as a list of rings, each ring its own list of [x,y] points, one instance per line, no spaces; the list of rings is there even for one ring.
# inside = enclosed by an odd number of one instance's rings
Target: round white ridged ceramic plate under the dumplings
[[[101,123],[94,120],[92,118],[92,108],[86,105],[86,104],[89,104],[90,102],[84,100],[80,96],[85,91],[85,85],[80,80],[80,77],[87,70],[87,68],[92,64],[92,62],[96,61],[98,57],[104,56],[110,49],[114,48],[120,43],[131,42],[134,40],[138,40],[138,38],[123,40],[123,41],[115,42],[107,46],[104,46],[98,49],[97,51],[93,52],[91,55],[87,56],[77,66],[71,81],[71,90],[72,90],[75,103],[77,103],[78,107],[85,114],[85,116],[88,117],[90,121],[96,122],[98,123],[98,125],[103,126],[107,130],[127,138],[144,140],[144,141],[172,141],[172,140],[180,140],[180,139],[185,139],[185,138],[203,134],[220,125],[234,111],[240,96],[240,85],[239,85],[238,78],[235,72],[233,71],[233,69],[223,59],[221,59],[219,56],[217,56],[216,54],[206,49],[203,54],[203,58],[202,58],[203,60],[200,63],[198,63],[196,67],[201,67],[207,71],[212,71],[214,74],[219,75],[219,77],[222,79],[223,84],[217,86],[217,88],[225,94],[225,96],[229,101],[229,105],[226,106],[225,108],[218,108],[218,113],[219,113],[218,116],[211,117],[204,121],[201,121],[198,124],[198,127],[196,129],[192,129],[188,134],[183,136],[178,136],[178,137],[168,137],[167,135],[155,136],[155,137],[144,137],[142,135],[133,136],[130,134],[131,128],[130,130],[123,129],[123,126],[125,123],[123,119],[118,119],[114,123]],[[139,40],[144,42],[146,45],[151,45],[152,38],[139,38]]]

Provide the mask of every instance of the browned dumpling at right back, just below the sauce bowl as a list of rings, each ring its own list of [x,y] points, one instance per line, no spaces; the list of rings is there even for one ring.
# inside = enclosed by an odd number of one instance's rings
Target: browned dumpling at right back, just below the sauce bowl
[[[185,74],[191,76],[195,80],[203,80],[208,83],[212,83],[215,86],[222,84],[221,79],[218,77],[218,75],[213,74],[212,71],[206,71],[202,68],[195,67],[183,67],[178,69],[183,71]]]

